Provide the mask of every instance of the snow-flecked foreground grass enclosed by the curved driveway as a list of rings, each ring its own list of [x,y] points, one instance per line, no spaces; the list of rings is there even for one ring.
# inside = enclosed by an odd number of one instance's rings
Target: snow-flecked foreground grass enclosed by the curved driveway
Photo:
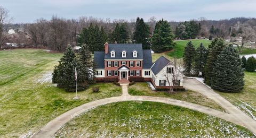
[[[246,128],[158,102],[117,102],[87,111],[55,137],[253,137]]]

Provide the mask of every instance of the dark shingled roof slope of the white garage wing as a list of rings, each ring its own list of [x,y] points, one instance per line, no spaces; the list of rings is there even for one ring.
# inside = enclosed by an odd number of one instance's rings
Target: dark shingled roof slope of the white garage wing
[[[159,57],[153,67],[151,68],[152,72],[156,75],[159,71],[161,71],[170,61],[164,56]]]

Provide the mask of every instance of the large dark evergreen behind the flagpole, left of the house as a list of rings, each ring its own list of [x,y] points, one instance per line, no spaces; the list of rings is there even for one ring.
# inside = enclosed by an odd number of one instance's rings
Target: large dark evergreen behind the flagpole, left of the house
[[[52,81],[58,84],[58,87],[65,89],[66,91],[75,91],[75,67],[77,70],[77,90],[81,91],[88,87],[85,81],[84,68],[76,58],[76,55],[69,45],[63,55],[60,58],[59,65],[54,67]]]

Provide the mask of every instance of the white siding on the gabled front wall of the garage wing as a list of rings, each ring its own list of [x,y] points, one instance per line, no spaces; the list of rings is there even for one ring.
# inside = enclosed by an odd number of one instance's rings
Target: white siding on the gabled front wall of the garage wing
[[[156,75],[154,75],[154,77],[156,78],[156,81],[155,81],[156,86],[160,86],[159,80],[165,80],[166,81],[166,85],[165,86],[169,86],[169,83],[168,83],[168,81],[166,79],[166,76],[164,76],[164,74],[166,74],[167,67],[173,67],[173,66],[172,65],[167,65],[167,66],[165,66],[163,68],[163,70],[161,70]],[[183,86],[183,74],[181,72],[179,72],[178,74],[179,74],[178,80],[180,80],[180,86]],[[173,77],[173,75],[169,74],[170,83],[171,83],[172,77]],[[172,86],[173,84],[170,84],[170,85]]]

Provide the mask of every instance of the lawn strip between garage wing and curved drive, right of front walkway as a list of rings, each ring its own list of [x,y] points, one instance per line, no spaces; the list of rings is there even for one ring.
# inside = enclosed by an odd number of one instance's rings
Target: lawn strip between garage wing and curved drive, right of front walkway
[[[222,107],[220,107],[215,101],[205,97],[203,94],[200,94],[195,91],[186,90],[186,91],[178,91],[174,94],[167,93],[165,91],[153,91],[148,87],[146,82],[138,82],[134,85],[131,85],[128,90],[129,94],[133,96],[157,96],[157,97],[166,97],[173,98],[183,101],[188,101],[192,103],[196,103],[198,105],[211,107],[220,111],[225,111]]]

